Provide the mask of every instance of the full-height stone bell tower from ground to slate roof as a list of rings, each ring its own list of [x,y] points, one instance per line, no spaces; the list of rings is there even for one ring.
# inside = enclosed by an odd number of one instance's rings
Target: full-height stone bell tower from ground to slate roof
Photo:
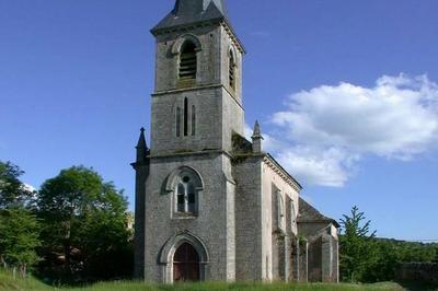
[[[235,280],[233,135],[244,135],[243,46],[223,0],[176,0],[151,30],[151,140],[137,147],[136,275]]]

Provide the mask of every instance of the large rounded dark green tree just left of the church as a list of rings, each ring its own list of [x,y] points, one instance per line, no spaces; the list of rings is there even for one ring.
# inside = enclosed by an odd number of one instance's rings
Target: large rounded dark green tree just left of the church
[[[93,170],[73,166],[46,181],[37,198],[45,267],[64,279],[94,280],[130,269],[127,200]],[[58,272],[56,263],[62,263]]]

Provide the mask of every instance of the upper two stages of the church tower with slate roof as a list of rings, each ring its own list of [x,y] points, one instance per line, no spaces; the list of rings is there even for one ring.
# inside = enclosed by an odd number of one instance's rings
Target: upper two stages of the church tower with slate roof
[[[231,150],[243,135],[243,46],[222,0],[177,0],[157,39],[151,154]]]

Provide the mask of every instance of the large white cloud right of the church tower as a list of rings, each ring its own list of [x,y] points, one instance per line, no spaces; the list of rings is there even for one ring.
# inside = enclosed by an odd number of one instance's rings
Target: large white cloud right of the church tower
[[[438,84],[400,74],[373,88],[322,85],[291,94],[270,124],[280,144],[272,150],[291,174],[341,187],[364,154],[410,161],[436,147]]]

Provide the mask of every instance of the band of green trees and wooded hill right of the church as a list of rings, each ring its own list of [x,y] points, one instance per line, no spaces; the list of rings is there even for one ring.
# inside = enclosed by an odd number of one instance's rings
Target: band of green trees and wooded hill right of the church
[[[341,279],[343,281],[395,281],[402,263],[438,263],[438,244],[376,237],[370,221],[354,207],[341,220]]]

